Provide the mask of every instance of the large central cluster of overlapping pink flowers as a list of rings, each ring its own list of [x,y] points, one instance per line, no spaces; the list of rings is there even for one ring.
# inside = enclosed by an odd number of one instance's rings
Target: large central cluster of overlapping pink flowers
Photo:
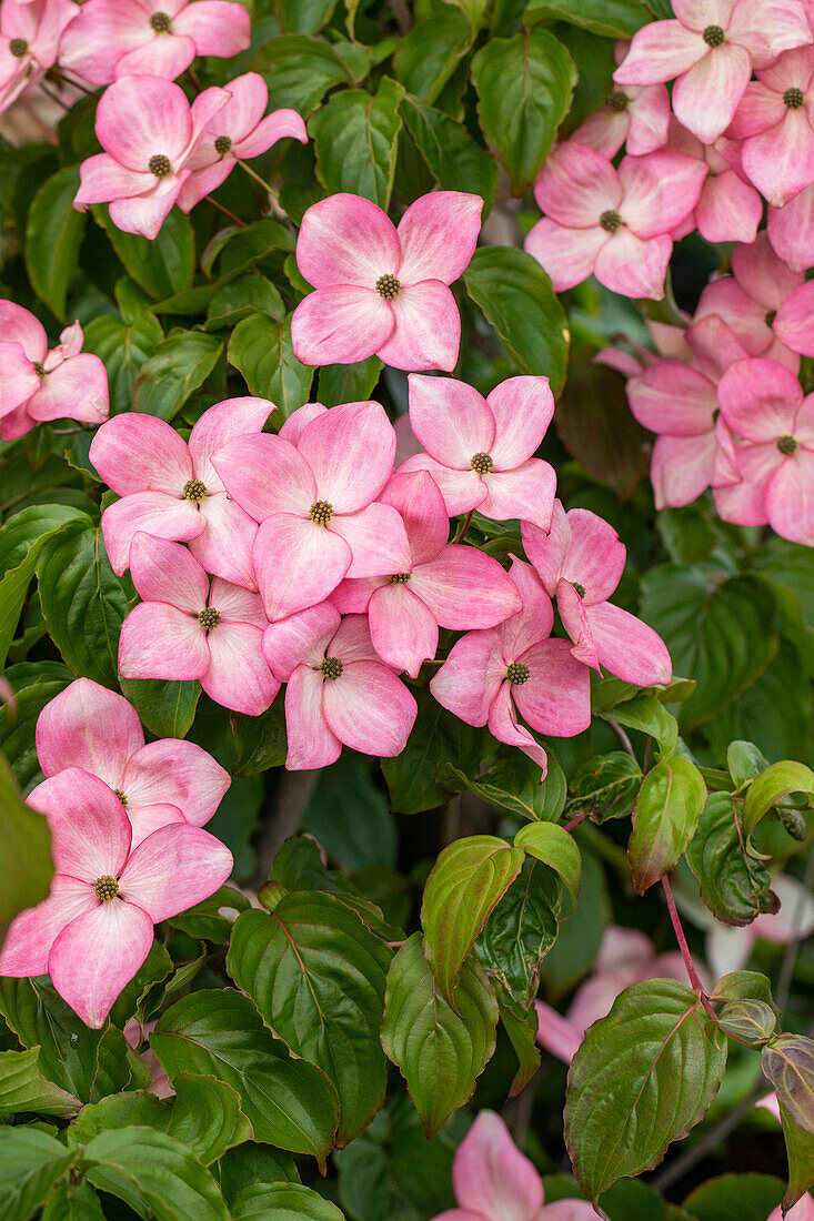
[[[484,399],[453,379],[411,375],[424,451],[397,471],[378,403],[308,403],[264,432],[274,410],[257,398],[218,403],[188,443],[136,413],[99,429],[90,460],[120,496],[103,515],[105,546],[142,598],[122,625],[125,678],[197,679],[249,716],[286,684],[287,767],[317,768],[342,745],[400,753],[417,705],[398,674],[416,678],[435,657],[439,629],[464,631],[433,694],[541,774],[545,751],[526,726],[587,729],[590,667],[670,681],[655,632],[607,603],[625,565],[616,532],[592,513],[566,514],[552,469],[534,457],[554,413],[548,379],[510,379]],[[507,574],[450,542],[450,518],[475,508],[521,519],[532,563],[515,559]],[[551,639],[554,596],[570,641]]]

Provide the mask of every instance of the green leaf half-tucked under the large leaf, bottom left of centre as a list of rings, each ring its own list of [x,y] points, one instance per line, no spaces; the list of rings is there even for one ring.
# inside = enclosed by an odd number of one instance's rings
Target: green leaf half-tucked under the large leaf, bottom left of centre
[[[248,996],[235,989],[185,996],[163,1013],[150,1048],[171,1081],[192,1072],[236,1089],[255,1140],[324,1165],[339,1120],[336,1092],[319,1068],[288,1055]]]

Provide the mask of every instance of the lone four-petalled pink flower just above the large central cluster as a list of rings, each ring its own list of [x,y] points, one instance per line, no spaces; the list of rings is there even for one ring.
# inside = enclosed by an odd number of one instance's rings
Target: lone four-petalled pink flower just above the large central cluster
[[[479,195],[435,190],[396,228],[359,195],[309,208],[297,266],[315,292],[291,320],[297,359],[346,365],[375,353],[395,369],[455,369],[461,315],[447,286],[473,255],[482,210]]]

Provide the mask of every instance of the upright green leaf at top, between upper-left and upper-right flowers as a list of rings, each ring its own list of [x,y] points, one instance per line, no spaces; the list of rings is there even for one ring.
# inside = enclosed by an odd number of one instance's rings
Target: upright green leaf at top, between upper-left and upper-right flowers
[[[540,27],[493,38],[472,61],[480,126],[508,170],[513,194],[524,194],[537,177],[568,112],[576,79],[562,43]]]

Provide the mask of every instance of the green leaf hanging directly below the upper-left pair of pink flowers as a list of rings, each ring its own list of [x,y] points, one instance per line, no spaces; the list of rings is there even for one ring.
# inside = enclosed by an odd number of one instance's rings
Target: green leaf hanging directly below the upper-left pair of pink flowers
[[[192,286],[196,270],[196,237],[192,222],[178,208],[169,214],[156,238],[125,233],[110,220],[108,209],[93,214],[101,223],[127,274],[154,300],[182,293]]]

